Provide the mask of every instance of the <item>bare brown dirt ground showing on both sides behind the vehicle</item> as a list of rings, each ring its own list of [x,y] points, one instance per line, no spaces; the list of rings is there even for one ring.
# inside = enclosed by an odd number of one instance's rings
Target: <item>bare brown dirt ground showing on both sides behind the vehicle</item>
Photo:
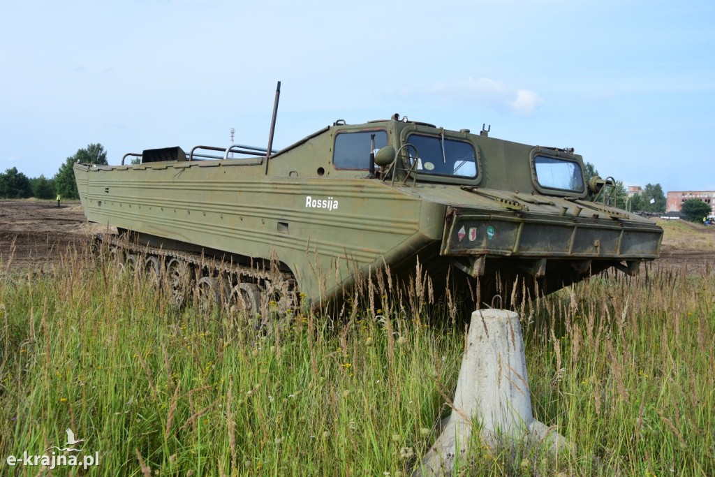
[[[677,222],[677,223],[676,223]],[[661,258],[651,267],[715,267],[715,227],[659,220],[665,236]],[[68,247],[84,250],[107,227],[90,224],[79,201],[0,200],[0,270],[48,267]]]

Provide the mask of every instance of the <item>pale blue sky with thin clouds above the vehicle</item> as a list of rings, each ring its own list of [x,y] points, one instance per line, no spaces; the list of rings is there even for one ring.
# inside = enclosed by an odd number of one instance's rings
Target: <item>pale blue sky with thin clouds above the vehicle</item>
[[[398,112],[715,190],[713,1],[0,0],[0,170]]]

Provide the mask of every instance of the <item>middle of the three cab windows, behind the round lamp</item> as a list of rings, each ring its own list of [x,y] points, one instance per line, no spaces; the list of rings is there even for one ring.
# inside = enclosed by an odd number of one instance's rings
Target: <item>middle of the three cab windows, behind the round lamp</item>
[[[477,177],[474,147],[469,142],[443,136],[410,134],[407,138],[410,163],[418,158],[420,174],[446,177]]]

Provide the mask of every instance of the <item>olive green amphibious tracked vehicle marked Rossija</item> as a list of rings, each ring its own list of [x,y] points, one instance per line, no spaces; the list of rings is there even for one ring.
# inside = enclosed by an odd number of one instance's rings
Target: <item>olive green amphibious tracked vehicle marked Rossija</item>
[[[395,114],[337,121],[279,151],[149,149],[140,164],[74,166],[90,222],[125,265],[161,275],[177,300],[252,309],[340,302],[356,277],[420,264],[436,288],[481,301],[513,283],[553,292],[659,256],[662,230],[587,197],[573,149],[452,131]],[[449,283],[447,283],[449,281]],[[506,288],[501,288],[503,284]],[[306,302],[307,300],[307,302]]]

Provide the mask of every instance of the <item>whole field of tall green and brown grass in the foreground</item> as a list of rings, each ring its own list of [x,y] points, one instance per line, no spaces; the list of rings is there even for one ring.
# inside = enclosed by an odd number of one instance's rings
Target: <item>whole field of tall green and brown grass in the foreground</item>
[[[61,446],[71,428],[99,465],[51,475],[409,475],[450,411],[465,329],[428,292],[400,302],[393,286],[342,320],[295,310],[255,330],[174,311],[84,254],[6,277],[0,474],[47,475],[6,456]],[[474,442],[458,473],[714,475],[714,290],[709,267],[651,268],[523,303],[535,417],[575,451]]]

